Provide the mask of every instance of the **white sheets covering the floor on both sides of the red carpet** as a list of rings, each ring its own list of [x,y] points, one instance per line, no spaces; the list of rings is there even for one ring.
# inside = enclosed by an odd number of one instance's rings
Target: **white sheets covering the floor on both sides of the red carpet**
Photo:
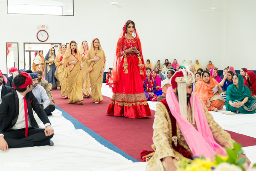
[[[102,95],[111,98],[111,89],[102,85]],[[157,102],[149,101],[151,110]],[[256,114],[229,116],[210,112],[226,130],[256,138]],[[0,151],[0,171],[145,171],[146,162],[132,162],[97,142],[84,130],[74,125],[55,110],[49,116],[54,146],[11,148]],[[39,119],[38,119],[39,122]],[[40,127],[44,125],[40,123]],[[256,162],[256,146],[243,148],[252,163]]]

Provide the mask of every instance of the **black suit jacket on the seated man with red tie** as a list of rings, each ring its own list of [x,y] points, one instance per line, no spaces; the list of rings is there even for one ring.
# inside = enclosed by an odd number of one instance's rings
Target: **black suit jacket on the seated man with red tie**
[[[37,113],[41,121],[46,124],[50,123],[44,109],[38,103],[36,97],[33,95],[32,91],[26,94],[26,101],[28,107],[28,116],[32,128],[39,128],[38,124],[34,118],[33,110]],[[17,91],[13,90],[11,93],[3,96],[2,103],[0,104],[0,133],[8,131],[17,122],[19,115],[19,99]]]

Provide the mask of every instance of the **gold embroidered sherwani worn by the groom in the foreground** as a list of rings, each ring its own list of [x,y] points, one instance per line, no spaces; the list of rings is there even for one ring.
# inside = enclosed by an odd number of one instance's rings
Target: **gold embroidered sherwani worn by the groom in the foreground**
[[[212,115],[208,112],[203,101],[201,101],[201,103],[204,108],[204,113],[209,124],[209,128],[212,130],[212,135],[219,142],[221,142],[221,144],[229,145],[231,148],[233,148],[234,140],[231,139],[230,134],[224,131],[214,121]],[[187,107],[187,113],[187,120],[192,124],[192,109],[190,104]],[[186,148],[187,151],[190,151],[178,124],[176,124],[175,127],[177,127],[177,141],[180,143],[180,145]],[[196,128],[196,125],[194,125],[194,127]],[[153,142],[156,149],[154,156],[151,157],[147,163],[146,171],[161,171],[161,168],[163,165],[165,165],[165,163],[161,162],[160,159],[165,157],[173,157],[175,163],[181,159],[185,159],[185,157],[183,157],[180,153],[172,148],[172,123],[170,120],[169,111],[166,109],[162,102],[157,103],[153,129]],[[165,168],[165,166],[163,166],[163,168]]]

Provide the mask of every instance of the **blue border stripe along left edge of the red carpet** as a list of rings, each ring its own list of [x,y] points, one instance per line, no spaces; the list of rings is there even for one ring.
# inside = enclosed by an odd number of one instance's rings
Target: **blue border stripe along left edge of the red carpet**
[[[88,128],[85,125],[83,125],[81,122],[79,122],[73,116],[71,116],[70,114],[68,114],[64,110],[62,110],[56,104],[55,104],[55,107],[56,107],[56,109],[58,109],[58,110],[60,110],[62,112],[62,116],[64,116],[64,118],[66,118],[67,120],[69,120],[70,122],[73,123],[73,125],[75,126],[76,129],[84,130],[86,133],[88,133],[90,136],[92,136],[94,139],[96,139],[96,141],[98,141],[101,145],[104,145],[105,147],[115,151],[116,153],[121,154],[126,159],[129,159],[129,160],[131,160],[133,162],[139,162],[137,159],[134,159],[133,157],[129,156],[124,151],[120,150],[115,145],[113,145],[111,142],[108,142],[105,138],[103,138],[102,136],[100,136],[99,134],[97,134],[96,132],[91,130],[90,128]]]

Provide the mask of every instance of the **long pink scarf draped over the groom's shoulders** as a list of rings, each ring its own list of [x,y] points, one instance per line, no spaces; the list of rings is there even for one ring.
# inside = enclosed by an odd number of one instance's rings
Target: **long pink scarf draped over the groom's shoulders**
[[[193,93],[191,95],[193,96]],[[197,96],[195,96],[195,123],[198,130],[180,115],[179,102],[172,87],[167,90],[166,101],[194,156],[213,157],[215,154],[226,154],[225,150],[215,142],[202,103]],[[192,97],[189,101],[190,104],[193,104]]]

